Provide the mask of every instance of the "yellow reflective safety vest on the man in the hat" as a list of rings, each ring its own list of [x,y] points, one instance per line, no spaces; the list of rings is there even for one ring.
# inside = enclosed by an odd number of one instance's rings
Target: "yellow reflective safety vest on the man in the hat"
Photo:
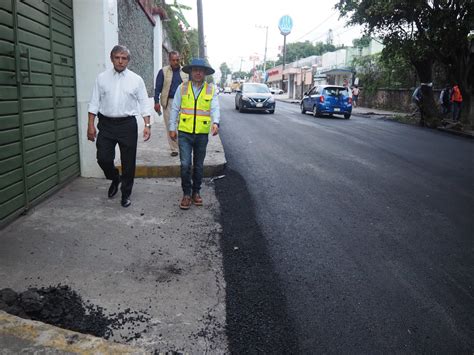
[[[194,97],[192,83],[181,86],[181,111],[178,131],[195,134],[209,134],[211,130],[211,100],[214,85],[204,83],[198,97]]]

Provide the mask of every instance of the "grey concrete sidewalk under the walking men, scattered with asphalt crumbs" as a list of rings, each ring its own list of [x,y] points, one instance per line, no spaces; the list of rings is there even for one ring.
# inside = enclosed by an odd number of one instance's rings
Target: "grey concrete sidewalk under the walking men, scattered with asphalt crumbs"
[[[152,139],[139,137],[137,154],[137,176],[149,179],[135,180],[129,208],[107,198],[105,179],[77,178],[0,237],[0,290],[67,285],[115,322],[113,335],[106,341],[0,311],[0,354],[227,352],[213,183],[203,183],[203,207],[179,209],[179,157],[169,154],[162,116],[152,120]],[[210,137],[206,176],[225,162],[219,136]]]

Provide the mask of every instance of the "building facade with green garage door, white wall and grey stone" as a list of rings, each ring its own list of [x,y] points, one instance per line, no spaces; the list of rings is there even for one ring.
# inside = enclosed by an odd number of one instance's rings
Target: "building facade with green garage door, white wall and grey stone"
[[[152,93],[162,28],[150,4],[0,1],[0,226],[79,175],[103,177],[87,140],[87,106],[121,41]]]

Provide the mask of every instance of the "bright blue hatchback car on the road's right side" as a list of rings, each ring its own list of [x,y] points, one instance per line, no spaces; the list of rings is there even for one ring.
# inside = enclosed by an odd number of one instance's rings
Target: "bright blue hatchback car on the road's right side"
[[[300,103],[301,113],[311,111],[314,117],[324,114],[344,115],[349,119],[352,113],[352,98],[349,89],[337,85],[319,85],[304,93]]]

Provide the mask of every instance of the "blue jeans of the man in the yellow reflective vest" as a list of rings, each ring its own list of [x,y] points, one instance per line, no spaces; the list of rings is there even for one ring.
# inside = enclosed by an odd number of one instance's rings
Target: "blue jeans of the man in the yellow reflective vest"
[[[178,131],[181,187],[184,195],[191,196],[191,193],[201,191],[208,140],[209,135],[207,134],[191,134]]]

